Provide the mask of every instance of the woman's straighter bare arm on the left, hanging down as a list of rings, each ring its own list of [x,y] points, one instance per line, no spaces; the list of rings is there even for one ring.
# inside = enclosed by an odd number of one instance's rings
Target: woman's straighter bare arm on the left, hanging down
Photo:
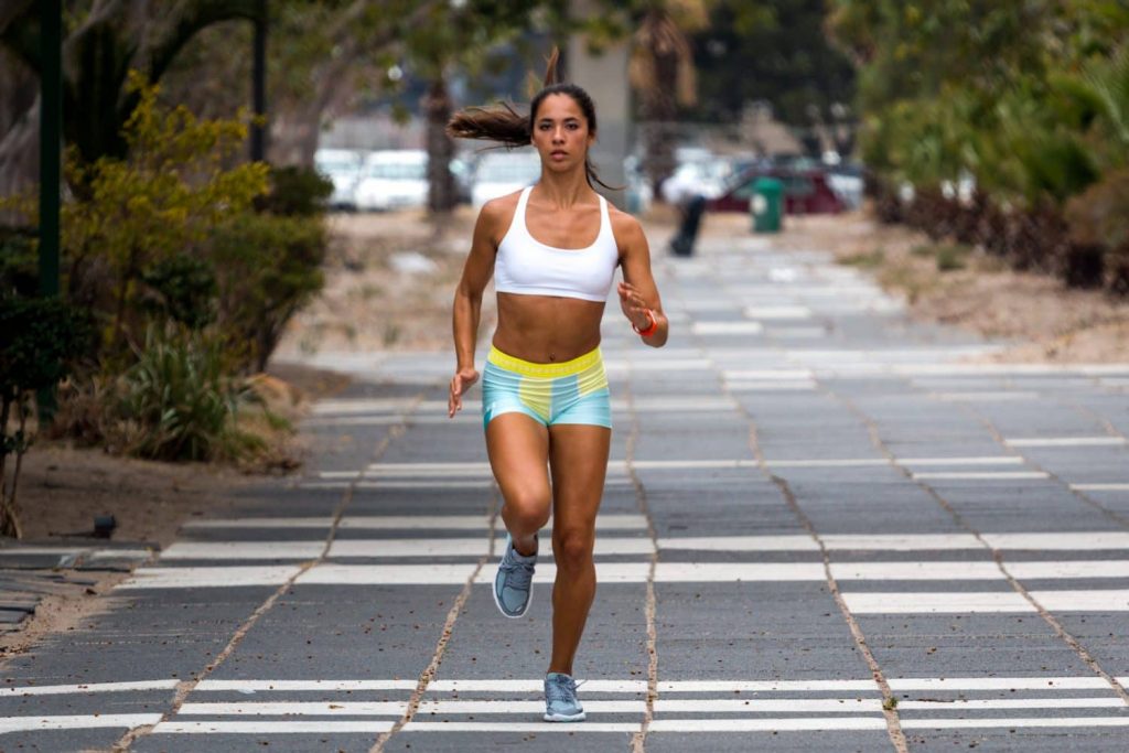
[[[482,315],[482,292],[493,274],[498,253],[498,202],[488,202],[479,212],[474,225],[471,253],[463,266],[463,277],[455,288],[453,323],[455,334],[455,376],[450,379],[447,415],[455,417],[463,408],[463,393],[479,379],[474,369],[474,345],[479,339],[479,318]]]

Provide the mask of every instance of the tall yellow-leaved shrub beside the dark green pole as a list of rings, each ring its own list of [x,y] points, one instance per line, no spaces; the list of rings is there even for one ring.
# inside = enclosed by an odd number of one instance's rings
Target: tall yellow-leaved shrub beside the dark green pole
[[[111,323],[107,343],[137,340],[145,329],[133,314],[145,310],[134,304],[147,271],[199,248],[209,228],[247,213],[266,190],[265,165],[226,166],[243,147],[245,122],[201,121],[183,107],[161,107],[156,87],[137,73],[130,90],[139,104],[125,125],[129,159],[86,165],[72,152],[68,172],[88,195],[62,210],[71,290],[95,301]],[[105,273],[91,275],[90,268]],[[100,289],[76,290],[88,283]]]

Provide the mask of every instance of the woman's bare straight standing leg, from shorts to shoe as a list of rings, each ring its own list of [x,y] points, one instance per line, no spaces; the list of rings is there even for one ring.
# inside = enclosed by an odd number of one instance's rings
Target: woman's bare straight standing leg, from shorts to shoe
[[[572,659],[596,595],[596,513],[604,496],[612,431],[602,426],[549,427],[553,480],[553,655],[549,672],[572,674]]]

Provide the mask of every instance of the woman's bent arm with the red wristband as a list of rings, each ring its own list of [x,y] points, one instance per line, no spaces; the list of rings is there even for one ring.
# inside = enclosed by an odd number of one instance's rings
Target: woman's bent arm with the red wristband
[[[662,348],[666,344],[671,323],[663,314],[658,286],[650,271],[647,236],[639,221],[623,212],[614,212],[613,230],[620,247],[620,266],[623,269],[623,282],[620,282],[618,289],[620,308],[645,343],[651,348]]]

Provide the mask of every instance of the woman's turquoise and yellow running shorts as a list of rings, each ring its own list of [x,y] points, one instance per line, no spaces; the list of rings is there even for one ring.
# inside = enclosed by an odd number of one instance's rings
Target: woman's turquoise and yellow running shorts
[[[482,373],[482,427],[502,413],[525,413],[542,426],[612,428],[612,395],[599,349],[563,364],[533,364],[490,348]]]

